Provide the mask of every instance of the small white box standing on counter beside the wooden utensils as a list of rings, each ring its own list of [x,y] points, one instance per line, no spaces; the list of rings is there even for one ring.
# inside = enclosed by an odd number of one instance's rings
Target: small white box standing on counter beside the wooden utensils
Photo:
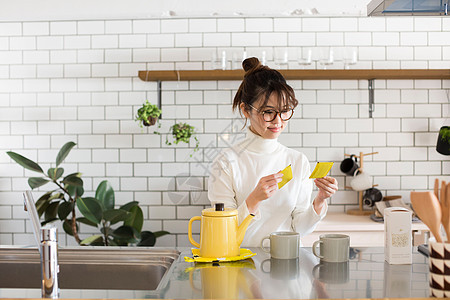
[[[412,263],[411,219],[404,207],[384,209],[384,258],[389,264]]]

